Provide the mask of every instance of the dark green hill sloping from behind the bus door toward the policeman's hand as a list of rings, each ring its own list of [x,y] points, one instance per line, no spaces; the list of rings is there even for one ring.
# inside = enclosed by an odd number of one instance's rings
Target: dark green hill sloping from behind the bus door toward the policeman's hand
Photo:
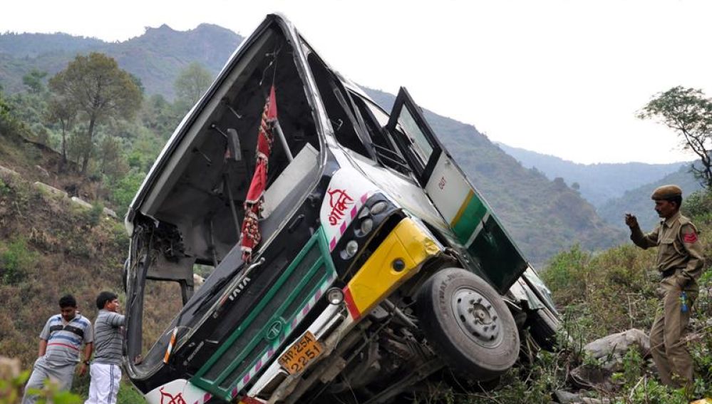
[[[386,110],[392,108],[393,95],[366,92]],[[597,250],[624,240],[624,232],[604,223],[577,191],[522,167],[474,126],[428,110],[425,118],[533,263],[542,264],[573,244]]]

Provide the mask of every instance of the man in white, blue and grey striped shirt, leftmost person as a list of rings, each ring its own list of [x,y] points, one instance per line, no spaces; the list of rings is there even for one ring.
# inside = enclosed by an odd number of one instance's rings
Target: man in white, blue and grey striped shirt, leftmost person
[[[59,309],[61,314],[51,316],[40,333],[39,357],[25,385],[22,404],[35,403],[33,391],[43,388],[47,379],[58,383],[60,390],[71,388],[82,343],[84,361],[78,373],[86,373],[94,341],[91,322],[77,312],[77,301],[71,294],[59,299]]]

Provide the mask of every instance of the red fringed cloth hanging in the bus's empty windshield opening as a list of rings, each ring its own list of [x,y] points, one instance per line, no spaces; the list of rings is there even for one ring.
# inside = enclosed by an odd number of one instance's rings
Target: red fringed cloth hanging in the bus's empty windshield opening
[[[259,233],[259,217],[262,214],[262,202],[264,202],[264,190],[267,188],[267,169],[269,167],[269,155],[272,152],[272,125],[277,120],[277,100],[274,94],[274,86],[269,89],[269,96],[262,109],[262,119],[259,121],[257,133],[257,150],[255,157],[257,162],[254,165],[254,175],[249,183],[249,190],[244,200],[244,220],[242,221],[242,234],[239,244],[242,249],[242,261],[249,262],[252,259],[252,249],[262,240]]]

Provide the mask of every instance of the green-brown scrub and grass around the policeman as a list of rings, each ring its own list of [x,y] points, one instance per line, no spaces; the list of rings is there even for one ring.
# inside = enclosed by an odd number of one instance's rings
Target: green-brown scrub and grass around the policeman
[[[431,395],[447,397],[452,403],[550,403],[555,392],[578,393],[587,403],[687,404],[712,396],[712,194],[698,193],[683,202],[683,214],[699,229],[706,257],[706,271],[698,284],[700,294],[693,306],[688,348],[693,356],[695,383],[689,391],[659,383],[649,352],[629,348],[621,364],[610,370],[583,346],[597,338],[631,328],[648,333],[655,317],[660,276],[654,269],[656,249],[642,250],[629,242],[598,254],[579,246],[560,252],[541,271],[553,292],[564,319],[558,347],[553,353],[540,351],[520,357],[525,366],[512,369],[492,391],[465,393],[445,389]],[[572,375],[582,367],[601,375],[606,384],[587,385]],[[559,403],[570,402],[557,400]]]

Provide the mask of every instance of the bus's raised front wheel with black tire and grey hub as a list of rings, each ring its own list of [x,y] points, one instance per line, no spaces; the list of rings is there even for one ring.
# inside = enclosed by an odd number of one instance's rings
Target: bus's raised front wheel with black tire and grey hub
[[[471,380],[492,380],[519,356],[517,326],[500,294],[470,271],[447,268],[418,291],[416,313],[435,353]]]

